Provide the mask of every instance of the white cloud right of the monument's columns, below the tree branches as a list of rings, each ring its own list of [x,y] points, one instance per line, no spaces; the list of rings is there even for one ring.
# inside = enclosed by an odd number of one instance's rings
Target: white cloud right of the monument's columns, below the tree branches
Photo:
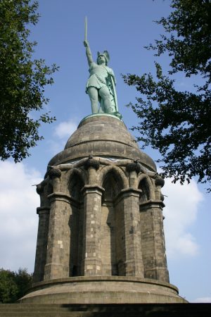
[[[162,192],[167,196],[163,211],[167,258],[196,256],[199,246],[190,231],[191,225],[196,222],[203,194],[194,180],[188,185],[180,185],[166,179]]]

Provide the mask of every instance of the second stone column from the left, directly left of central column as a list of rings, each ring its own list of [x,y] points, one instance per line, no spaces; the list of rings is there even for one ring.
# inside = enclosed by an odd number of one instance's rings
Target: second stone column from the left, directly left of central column
[[[44,280],[70,275],[70,196],[61,192],[49,195],[51,212]]]

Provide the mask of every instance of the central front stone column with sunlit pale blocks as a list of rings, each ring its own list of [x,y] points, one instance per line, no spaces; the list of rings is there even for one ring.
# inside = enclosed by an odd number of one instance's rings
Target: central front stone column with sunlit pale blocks
[[[84,186],[84,250],[82,272],[85,276],[101,275],[101,196],[98,185]]]

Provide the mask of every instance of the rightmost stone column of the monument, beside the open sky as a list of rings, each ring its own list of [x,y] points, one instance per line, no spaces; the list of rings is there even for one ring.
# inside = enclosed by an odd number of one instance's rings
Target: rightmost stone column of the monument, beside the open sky
[[[140,205],[141,244],[143,251],[144,277],[169,282],[165,256],[162,201],[146,201]]]

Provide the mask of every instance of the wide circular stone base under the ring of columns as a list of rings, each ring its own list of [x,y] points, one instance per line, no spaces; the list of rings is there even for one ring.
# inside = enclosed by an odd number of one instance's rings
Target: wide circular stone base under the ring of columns
[[[186,303],[167,282],[127,276],[48,280],[33,285],[23,304]]]

